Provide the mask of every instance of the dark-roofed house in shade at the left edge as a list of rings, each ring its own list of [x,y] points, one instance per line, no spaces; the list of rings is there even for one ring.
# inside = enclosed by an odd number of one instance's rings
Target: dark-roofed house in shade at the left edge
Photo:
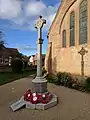
[[[11,58],[20,58],[18,50],[0,45],[0,66],[10,65]]]

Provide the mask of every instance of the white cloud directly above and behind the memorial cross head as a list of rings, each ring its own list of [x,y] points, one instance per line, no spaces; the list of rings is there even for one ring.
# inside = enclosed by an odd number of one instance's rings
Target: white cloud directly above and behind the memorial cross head
[[[28,21],[30,29],[35,30],[34,24],[36,23],[37,16],[42,15],[47,21],[47,24],[45,25],[45,29],[47,30],[55,17],[56,11],[57,6],[46,6],[42,1],[29,2],[25,6],[26,15],[29,18],[33,18],[34,16],[36,16],[34,17],[32,23]]]

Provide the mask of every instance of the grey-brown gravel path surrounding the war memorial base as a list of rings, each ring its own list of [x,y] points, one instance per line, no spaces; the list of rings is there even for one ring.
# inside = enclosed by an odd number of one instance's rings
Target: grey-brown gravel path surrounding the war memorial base
[[[31,88],[32,78],[23,78],[0,86],[0,120],[90,120],[90,95],[65,87],[48,84],[58,96],[57,106],[45,111],[21,109],[12,112],[10,104]]]

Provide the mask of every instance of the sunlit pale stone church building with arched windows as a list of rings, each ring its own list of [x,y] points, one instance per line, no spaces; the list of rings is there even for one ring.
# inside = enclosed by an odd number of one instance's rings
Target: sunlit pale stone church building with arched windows
[[[90,0],[62,0],[48,32],[45,68],[90,75]]]

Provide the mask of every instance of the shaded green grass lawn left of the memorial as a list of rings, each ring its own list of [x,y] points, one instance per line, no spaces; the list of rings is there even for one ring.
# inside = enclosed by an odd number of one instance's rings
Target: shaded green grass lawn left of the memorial
[[[22,73],[0,72],[0,85],[15,81],[23,77],[27,77],[34,73],[36,73],[35,70],[25,70]]]

